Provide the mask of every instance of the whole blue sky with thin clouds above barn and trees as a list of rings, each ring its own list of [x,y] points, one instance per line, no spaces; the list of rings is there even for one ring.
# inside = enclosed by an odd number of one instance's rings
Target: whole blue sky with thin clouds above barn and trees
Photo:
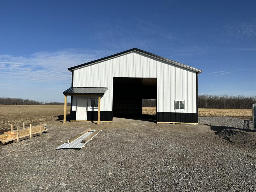
[[[139,48],[256,95],[256,1],[1,1],[0,97],[62,101],[68,67]]]

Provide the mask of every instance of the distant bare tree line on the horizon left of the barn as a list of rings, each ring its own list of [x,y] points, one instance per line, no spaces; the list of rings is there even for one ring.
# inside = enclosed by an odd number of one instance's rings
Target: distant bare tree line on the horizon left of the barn
[[[64,105],[64,102],[42,102],[29,99],[0,97],[0,105]],[[67,105],[70,105],[67,102]]]

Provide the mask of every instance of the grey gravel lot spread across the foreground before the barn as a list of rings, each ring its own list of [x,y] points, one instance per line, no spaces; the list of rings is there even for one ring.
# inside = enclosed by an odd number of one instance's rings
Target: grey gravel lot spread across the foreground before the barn
[[[243,121],[199,120],[240,128]],[[46,123],[48,133],[0,148],[0,191],[256,191],[256,152],[223,140],[212,126]],[[89,127],[103,131],[85,148],[55,150]]]

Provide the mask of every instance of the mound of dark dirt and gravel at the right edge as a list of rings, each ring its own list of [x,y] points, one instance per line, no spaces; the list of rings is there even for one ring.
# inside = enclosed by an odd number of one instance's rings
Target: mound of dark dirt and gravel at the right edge
[[[256,150],[256,132],[238,129],[223,129],[216,135],[243,148]]]

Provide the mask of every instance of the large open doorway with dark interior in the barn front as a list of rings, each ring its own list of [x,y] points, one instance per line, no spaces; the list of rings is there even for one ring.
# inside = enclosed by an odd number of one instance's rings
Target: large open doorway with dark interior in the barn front
[[[113,116],[155,121],[142,115],[142,99],[157,99],[157,78],[113,78]]]

